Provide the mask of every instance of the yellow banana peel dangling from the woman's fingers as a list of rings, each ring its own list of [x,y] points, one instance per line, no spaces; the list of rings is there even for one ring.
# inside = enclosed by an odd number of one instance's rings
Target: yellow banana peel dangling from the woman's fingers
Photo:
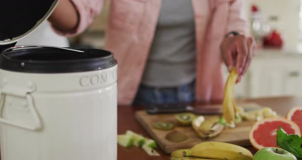
[[[232,124],[234,122],[236,112],[238,111],[234,98],[234,87],[237,77],[238,74],[236,73],[235,67],[233,67],[225,85],[222,103],[223,117],[228,124]]]

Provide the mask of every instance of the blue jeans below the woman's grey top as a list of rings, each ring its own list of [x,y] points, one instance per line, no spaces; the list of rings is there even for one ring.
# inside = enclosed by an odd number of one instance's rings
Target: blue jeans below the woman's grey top
[[[178,87],[140,85],[133,105],[191,103],[195,101],[195,81]]]

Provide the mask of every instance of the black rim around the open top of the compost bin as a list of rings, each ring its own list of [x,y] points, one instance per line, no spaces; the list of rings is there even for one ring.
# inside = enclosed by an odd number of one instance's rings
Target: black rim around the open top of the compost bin
[[[117,65],[111,51],[87,48],[80,50],[84,52],[49,48],[12,50],[0,55],[0,69],[23,73],[75,73],[103,70]],[[55,59],[48,60],[51,56]]]

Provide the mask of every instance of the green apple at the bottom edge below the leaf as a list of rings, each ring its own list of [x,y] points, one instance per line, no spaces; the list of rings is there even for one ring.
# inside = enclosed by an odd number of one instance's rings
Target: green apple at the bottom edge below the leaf
[[[297,158],[282,148],[267,147],[258,150],[253,160],[297,160]]]

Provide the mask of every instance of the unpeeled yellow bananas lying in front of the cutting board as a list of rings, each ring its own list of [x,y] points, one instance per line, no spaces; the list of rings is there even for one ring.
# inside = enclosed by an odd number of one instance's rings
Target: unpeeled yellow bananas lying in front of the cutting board
[[[243,147],[221,142],[204,142],[191,149],[182,149],[171,153],[171,160],[189,159],[251,160],[253,155]]]

